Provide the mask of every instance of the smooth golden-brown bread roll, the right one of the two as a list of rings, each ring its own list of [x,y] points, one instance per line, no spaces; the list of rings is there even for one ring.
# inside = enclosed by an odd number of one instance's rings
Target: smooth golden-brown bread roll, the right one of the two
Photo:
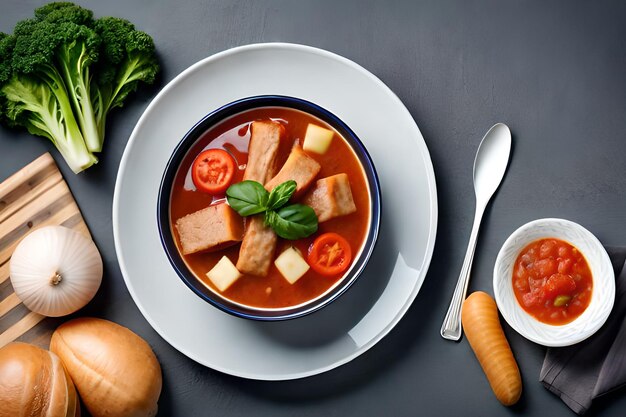
[[[150,346],[126,327],[79,318],[59,326],[50,350],[63,360],[93,417],[152,417],[161,367]]]

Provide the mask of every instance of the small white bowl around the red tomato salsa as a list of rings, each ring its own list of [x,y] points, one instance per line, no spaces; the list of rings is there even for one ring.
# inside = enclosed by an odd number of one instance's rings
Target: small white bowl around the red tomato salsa
[[[578,318],[555,326],[528,314],[513,292],[513,266],[520,251],[539,239],[556,238],[574,245],[591,269],[591,302]],[[493,270],[493,290],[502,317],[519,334],[544,346],[569,346],[594,334],[606,321],[615,302],[615,274],[600,241],[581,225],[563,219],[539,219],[517,229],[502,245]]]

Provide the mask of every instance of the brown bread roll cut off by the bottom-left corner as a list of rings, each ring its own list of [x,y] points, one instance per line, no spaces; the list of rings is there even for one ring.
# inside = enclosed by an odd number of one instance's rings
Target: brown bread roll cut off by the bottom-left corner
[[[0,349],[0,417],[75,416],[76,390],[57,355],[19,342]]]

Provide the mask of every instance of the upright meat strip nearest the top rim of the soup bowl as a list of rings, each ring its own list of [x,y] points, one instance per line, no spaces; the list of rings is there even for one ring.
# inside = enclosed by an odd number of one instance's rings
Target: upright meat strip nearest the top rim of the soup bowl
[[[276,156],[285,128],[278,122],[252,122],[244,180],[265,184],[276,173]]]

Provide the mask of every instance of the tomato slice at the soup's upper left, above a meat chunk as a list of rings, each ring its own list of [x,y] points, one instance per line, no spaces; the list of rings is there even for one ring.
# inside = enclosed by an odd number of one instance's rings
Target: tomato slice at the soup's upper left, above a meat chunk
[[[235,175],[235,160],[223,149],[200,152],[191,166],[191,178],[196,188],[210,194],[226,191]]]

